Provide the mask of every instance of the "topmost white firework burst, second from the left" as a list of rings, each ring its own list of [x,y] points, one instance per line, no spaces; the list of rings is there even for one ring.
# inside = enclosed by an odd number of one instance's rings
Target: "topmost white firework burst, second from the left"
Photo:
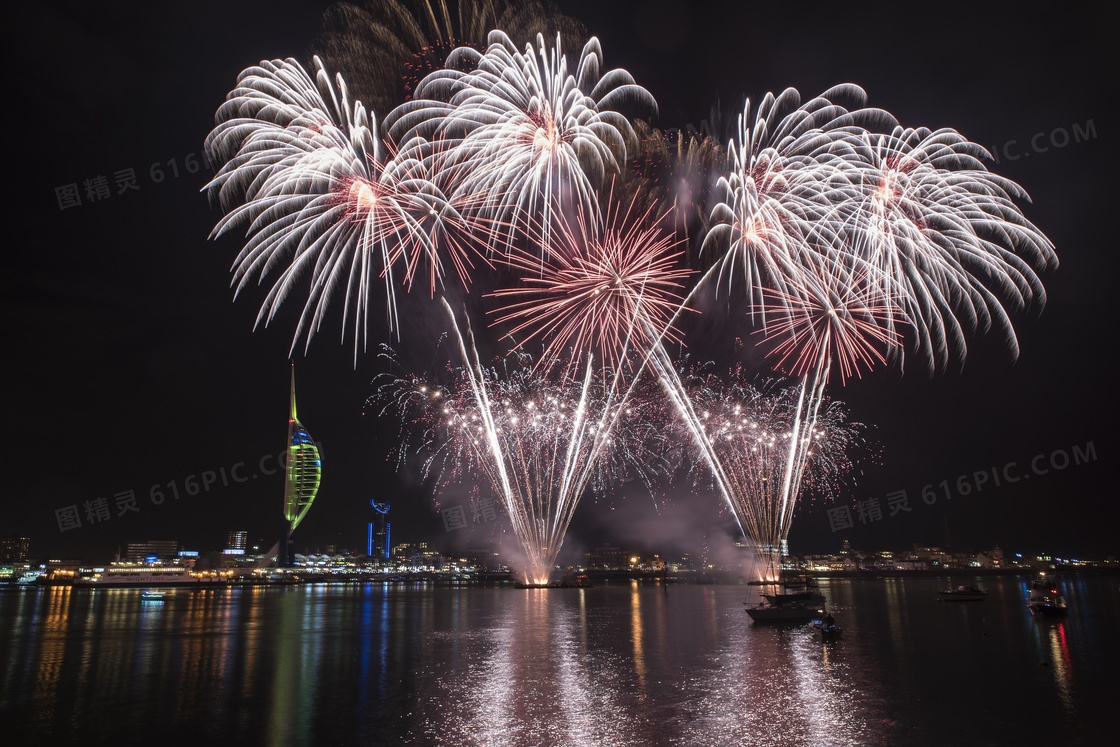
[[[488,41],[484,54],[451,53],[449,69],[426,77],[416,99],[390,113],[389,130],[398,141],[444,143],[436,160],[452,175],[456,195],[484,195],[485,213],[506,226],[504,239],[495,230],[492,240],[514,243],[517,230],[539,217],[547,251],[556,200],[598,215],[596,189],[622,171],[636,141],[614,108],[633,100],[655,112],[656,102],[626,71],[600,74],[603,49],[594,37],[575,75],[559,35],[551,48],[538,35],[536,47],[523,52],[500,30]],[[472,69],[450,69],[461,66]]]

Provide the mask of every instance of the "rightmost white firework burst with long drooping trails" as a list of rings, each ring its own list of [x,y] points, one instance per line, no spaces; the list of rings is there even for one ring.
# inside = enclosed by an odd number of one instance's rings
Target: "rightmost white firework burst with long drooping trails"
[[[1057,264],[1054,245],[1012,202],[1029,202],[1027,193],[989,171],[988,152],[955,130],[849,131],[846,142],[859,175],[838,211],[843,251],[898,297],[930,372],[954,351],[963,362],[965,334],[992,326],[1018,355],[1008,310],[1044,304],[1035,268]]]

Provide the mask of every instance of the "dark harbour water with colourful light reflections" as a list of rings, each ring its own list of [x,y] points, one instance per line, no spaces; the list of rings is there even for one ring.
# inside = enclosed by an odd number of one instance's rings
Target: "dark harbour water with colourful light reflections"
[[[8,744],[1094,744],[1114,581],[1063,582],[1062,620],[1017,579],[945,585],[824,582],[834,644],[734,586],[8,590],[0,718]]]

